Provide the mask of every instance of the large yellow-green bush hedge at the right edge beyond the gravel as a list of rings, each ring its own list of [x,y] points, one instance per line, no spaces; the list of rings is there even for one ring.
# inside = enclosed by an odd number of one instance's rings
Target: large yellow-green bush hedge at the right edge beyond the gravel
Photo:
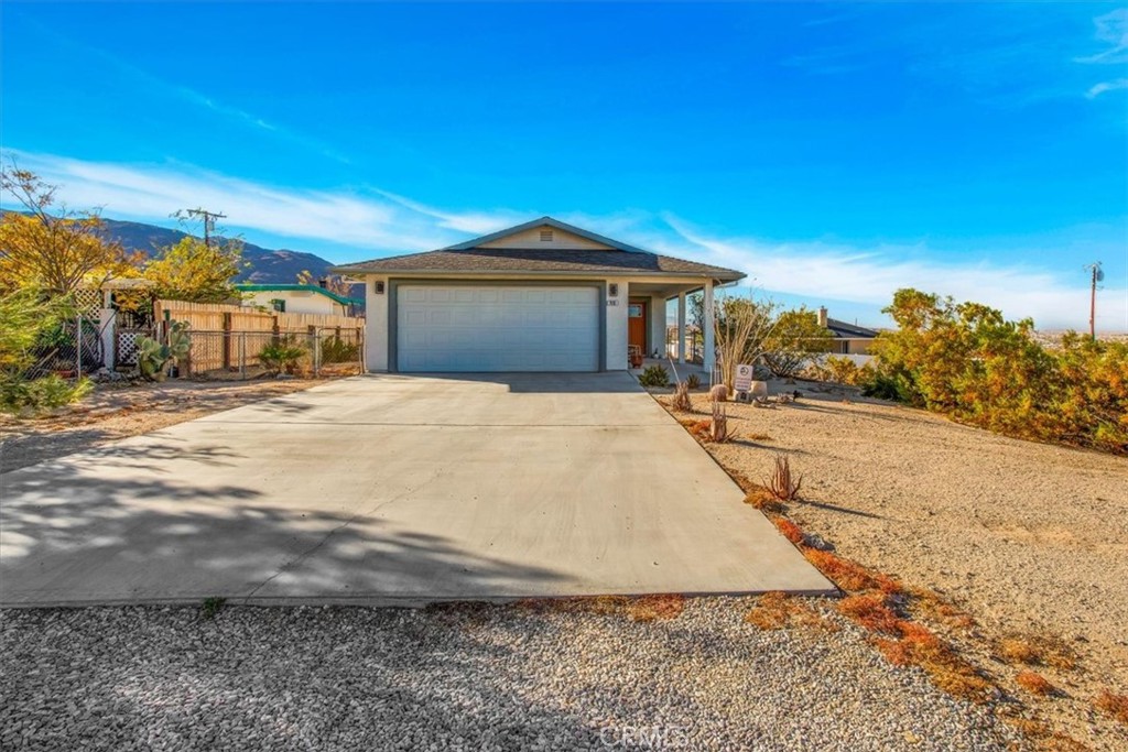
[[[1128,345],[1070,333],[1048,351],[1030,319],[911,289],[884,310],[898,328],[874,344],[869,393],[1012,436],[1128,451]]]

